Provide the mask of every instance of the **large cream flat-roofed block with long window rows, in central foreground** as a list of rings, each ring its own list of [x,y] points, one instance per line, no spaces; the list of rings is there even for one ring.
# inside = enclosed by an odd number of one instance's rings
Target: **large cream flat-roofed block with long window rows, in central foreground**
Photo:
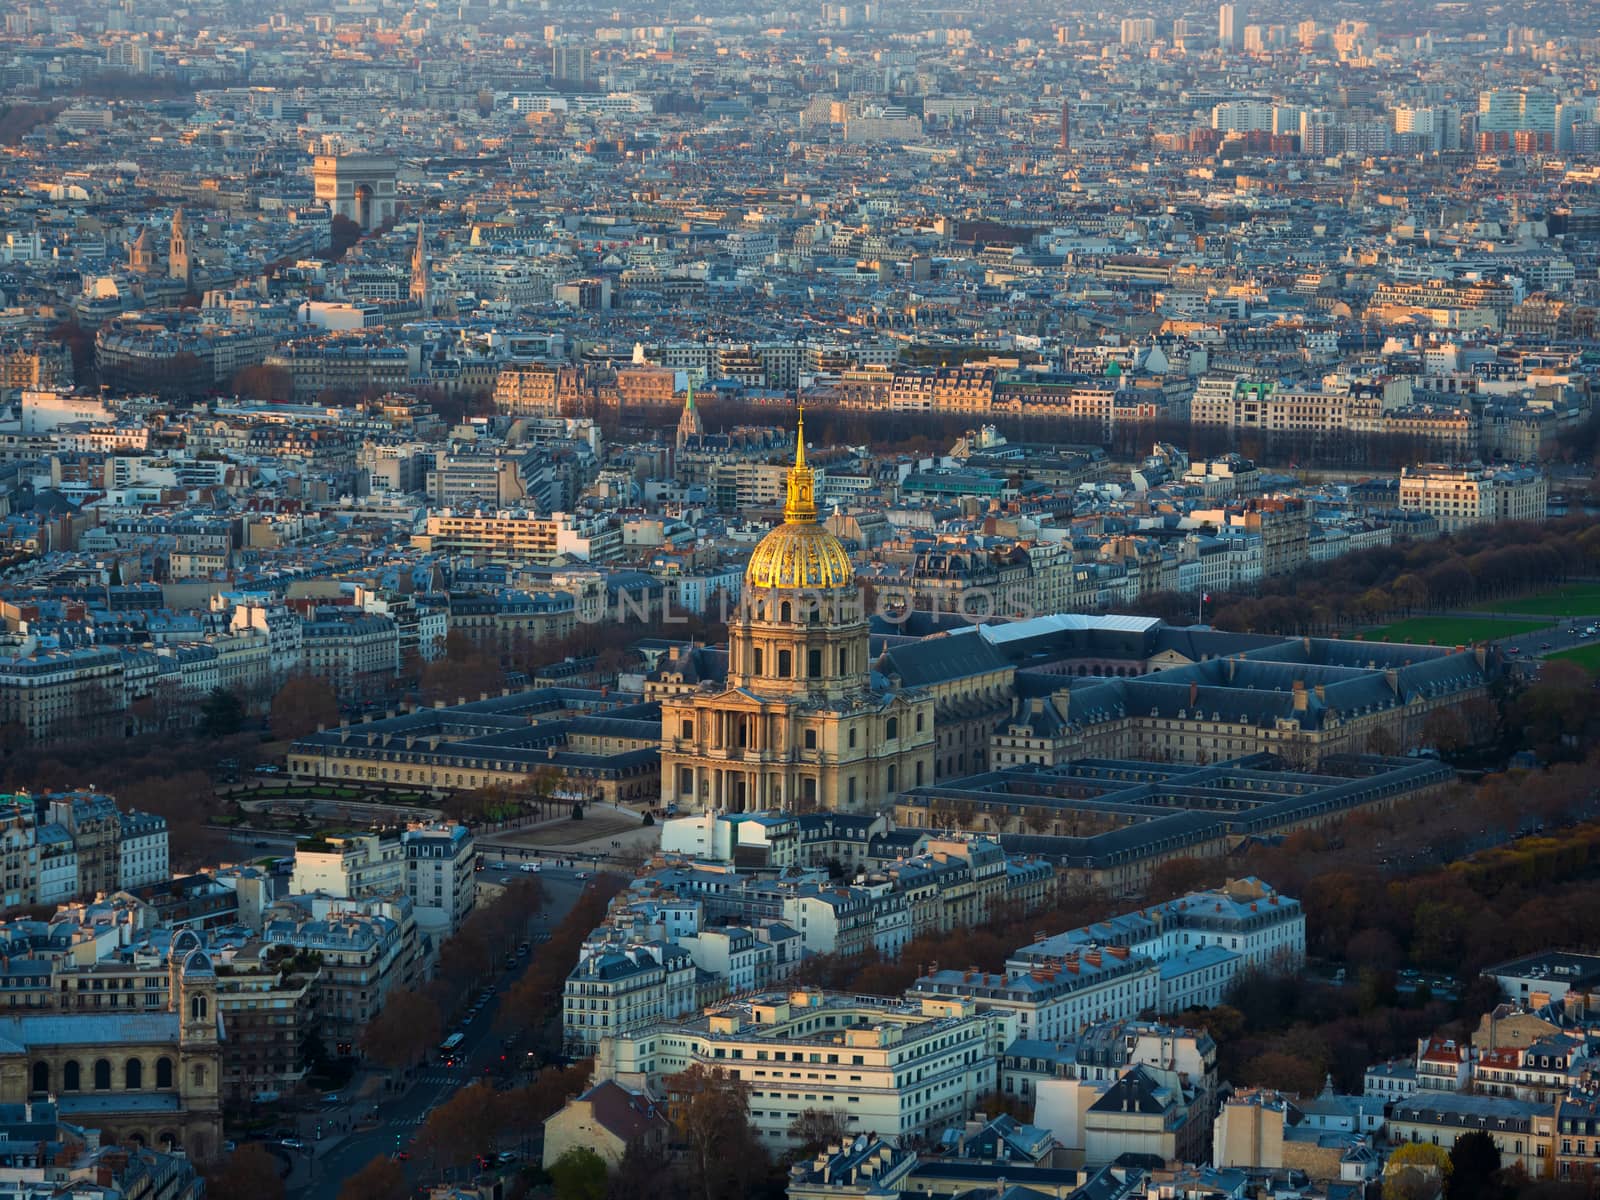
[[[1010,1014],[968,1000],[763,995],[611,1038],[595,1078],[654,1090],[691,1066],[726,1070],[749,1086],[750,1123],[771,1152],[794,1149],[790,1125],[808,1109],[838,1112],[851,1136],[933,1141],[995,1090],[1013,1030]]]

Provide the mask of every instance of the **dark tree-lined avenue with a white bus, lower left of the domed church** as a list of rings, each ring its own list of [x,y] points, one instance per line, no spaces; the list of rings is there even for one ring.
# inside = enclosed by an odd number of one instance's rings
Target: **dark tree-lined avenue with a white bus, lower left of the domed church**
[[[485,870],[482,878],[496,882],[514,882],[525,878],[520,872]],[[530,922],[530,933],[534,938],[533,954],[539,954],[538,934],[560,923],[573,904],[582,894],[584,883],[576,877],[576,870],[544,867],[544,910]],[[294,1176],[290,1179],[290,1190],[309,1200],[336,1200],[344,1181],[366,1166],[379,1155],[394,1154],[410,1144],[416,1136],[427,1114],[450,1099],[458,1088],[470,1080],[482,1078],[491,1066],[498,1066],[501,1056],[501,1037],[494,1032],[494,1013],[499,1010],[506,987],[523,970],[528,960],[520,960],[510,971],[502,971],[493,979],[494,995],[483,1010],[466,1021],[451,1026],[453,1030],[466,1034],[461,1043],[462,1061],[458,1067],[442,1067],[429,1064],[418,1074],[411,1088],[394,1099],[378,1104],[376,1118],[368,1118],[371,1101],[363,1101],[357,1107],[362,1110],[363,1128],[338,1141],[323,1141],[317,1150],[312,1178],[307,1182],[304,1168],[296,1162]],[[419,1182],[416,1163],[406,1163],[406,1176],[411,1182]]]

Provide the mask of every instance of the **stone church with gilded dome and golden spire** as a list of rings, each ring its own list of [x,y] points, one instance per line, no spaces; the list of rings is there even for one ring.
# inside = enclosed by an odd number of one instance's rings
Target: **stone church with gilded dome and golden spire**
[[[870,813],[933,782],[933,701],[872,669],[854,568],[816,518],[803,418],[787,491],[744,571],[726,678],[675,662],[659,677],[661,794],[680,810]]]

